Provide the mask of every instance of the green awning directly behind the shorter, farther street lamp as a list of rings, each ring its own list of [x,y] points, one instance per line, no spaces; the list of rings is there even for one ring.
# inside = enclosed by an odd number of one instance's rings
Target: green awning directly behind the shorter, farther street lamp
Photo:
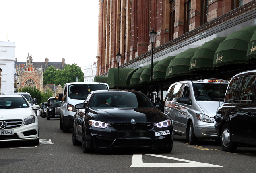
[[[134,70],[134,68],[119,68],[119,82],[118,88],[129,87],[126,86],[126,77],[130,71]],[[108,72],[107,84],[109,88],[116,88],[117,87],[117,72],[118,68],[110,68]]]

